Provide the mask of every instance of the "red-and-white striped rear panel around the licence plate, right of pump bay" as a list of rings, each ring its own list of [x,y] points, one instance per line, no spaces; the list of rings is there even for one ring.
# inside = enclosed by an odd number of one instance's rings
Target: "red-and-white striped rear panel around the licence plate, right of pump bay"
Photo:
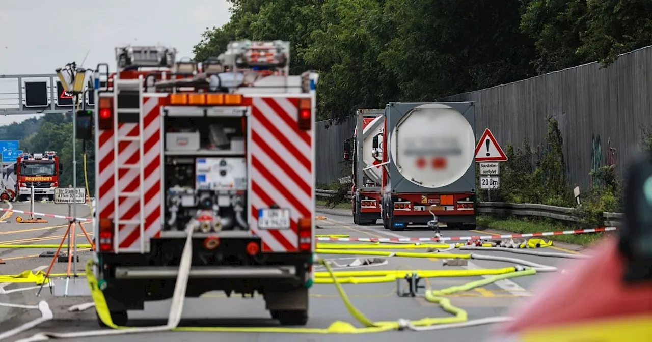
[[[299,130],[299,98],[253,97],[249,117],[250,229],[263,252],[297,251],[298,223],[314,216],[314,131]],[[258,209],[289,208],[291,229],[258,229]]]

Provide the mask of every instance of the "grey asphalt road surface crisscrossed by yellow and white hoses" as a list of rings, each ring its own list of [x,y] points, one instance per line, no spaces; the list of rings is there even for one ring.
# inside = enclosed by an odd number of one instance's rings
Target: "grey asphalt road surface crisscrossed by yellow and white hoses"
[[[2,204],[7,207],[7,203]],[[14,208],[29,210],[29,205],[13,203]],[[68,208],[65,205],[40,204],[37,203],[35,210],[48,214],[67,214]],[[17,215],[14,213],[5,221],[10,223],[0,224],[0,244],[58,244],[65,233],[67,221],[48,219],[48,223],[15,223]],[[352,223],[352,218],[346,216],[345,211],[322,212],[327,220],[319,220],[317,234],[347,234],[351,237],[430,237],[432,231],[410,230],[410,231],[387,231],[382,226],[359,227]],[[21,215],[23,216],[23,215]],[[87,207],[78,207],[78,217],[88,217]],[[90,231],[91,227],[87,227]],[[444,236],[467,236],[478,235],[477,231],[444,230]],[[486,233],[486,232],[485,232]],[[78,236],[80,243],[86,243],[83,234]],[[6,264],[0,265],[0,274],[18,274],[24,270],[44,269],[50,264],[51,258],[37,257],[42,251],[54,251],[49,249],[0,249],[0,258]],[[387,249],[384,249],[387,250]],[[546,249],[541,249],[546,250]],[[403,250],[404,251],[404,250]],[[421,252],[415,250],[415,252]],[[553,250],[551,250],[553,251]],[[554,250],[559,252],[559,250]],[[466,253],[466,251],[454,250],[452,253]],[[552,257],[535,257],[531,255],[516,255],[513,253],[482,251],[484,255],[500,255],[506,257],[517,257],[533,261],[535,263],[547,264],[560,267],[563,263],[572,262],[569,259]],[[327,259],[340,259],[355,257],[354,255],[323,255]],[[83,266],[90,252],[82,252],[78,270],[83,272]],[[364,256],[362,256],[364,257]],[[336,261],[344,264],[346,259]],[[441,260],[425,258],[388,258],[388,264],[382,266],[369,266],[357,268],[357,270],[378,270],[378,269],[454,269],[451,266],[442,266]],[[581,261],[580,261],[581,262]],[[511,266],[507,263],[494,261],[472,261],[466,268],[503,268]],[[565,268],[561,266],[560,269]],[[53,273],[65,273],[66,263],[55,263]],[[483,317],[494,317],[506,315],[508,307],[527,300],[529,296],[535,295],[532,291],[533,285],[548,276],[537,274],[524,278],[499,281],[497,283],[475,289],[473,291],[452,294],[449,296],[455,306],[466,309],[469,319],[480,319]],[[434,289],[442,289],[452,285],[462,285],[468,281],[481,279],[473,278],[430,278],[429,285]],[[81,279],[83,281],[83,278]],[[29,287],[33,284],[2,284],[0,288],[5,291]],[[431,304],[424,298],[401,298],[396,295],[396,284],[376,283],[368,285],[344,285],[353,304],[372,321],[394,321],[396,319],[420,319],[422,317],[446,317],[445,313],[436,304]],[[35,296],[36,289],[27,291],[2,294],[0,291],[0,302],[11,304],[37,304],[40,300],[46,300],[53,311],[54,319],[43,322],[35,328],[20,335],[10,337],[8,341],[16,341],[29,337],[37,332],[80,332],[97,330],[95,312],[89,309],[83,312],[70,313],[68,307],[74,304],[90,302],[89,297],[68,297],[53,296],[46,287],[40,298]],[[165,324],[169,312],[170,301],[148,303],[145,311],[130,312],[130,324],[139,326]],[[22,308],[0,307],[0,332],[20,326],[25,322],[39,317],[37,310]],[[225,298],[220,293],[207,293],[202,298],[188,298],[183,311],[184,320],[182,325],[186,326],[278,326],[271,320],[269,313],[264,309],[264,302],[261,298]],[[314,285],[310,299],[310,320],[308,328],[327,328],[334,321],[347,321],[355,326],[361,326],[346,311],[342,300],[336,295],[333,285]],[[318,335],[318,334],[278,334],[278,333],[215,333],[215,332],[162,332],[141,334],[138,337],[130,336],[129,339],[138,338],[141,341],[395,341],[401,338],[409,338],[410,341],[432,341],[436,336],[437,341],[483,341],[490,334],[491,326],[475,326],[469,328],[456,328],[440,330],[437,332],[385,332],[381,334],[364,335]],[[405,336],[409,335],[409,336]],[[84,337],[83,341],[117,341],[125,337]]]

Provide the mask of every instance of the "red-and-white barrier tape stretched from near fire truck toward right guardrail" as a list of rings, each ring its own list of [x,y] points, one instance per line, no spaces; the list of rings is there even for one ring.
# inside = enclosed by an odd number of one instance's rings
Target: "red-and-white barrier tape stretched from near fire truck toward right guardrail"
[[[506,234],[506,235],[477,235],[477,236],[447,236],[441,238],[327,238],[318,237],[317,241],[357,241],[357,242],[413,242],[413,241],[468,241],[492,240],[498,238],[531,238],[535,236],[567,235],[582,233],[597,233],[601,231],[615,231],[617,227],[575,229],[574,231],[546,231],[542,233]]]

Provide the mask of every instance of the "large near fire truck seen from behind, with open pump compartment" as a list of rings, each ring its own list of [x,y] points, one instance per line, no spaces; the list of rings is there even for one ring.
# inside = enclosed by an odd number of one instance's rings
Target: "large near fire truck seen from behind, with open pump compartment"
[[[111,318],[173,295],[190,234],[186,296],[258,292],[274,319],[303,325],[318,75],[290,76],[280,40],[231,42],[202,63],[175,55],[117,48],[106,87],[108,65],[96,72],[95,273]]]

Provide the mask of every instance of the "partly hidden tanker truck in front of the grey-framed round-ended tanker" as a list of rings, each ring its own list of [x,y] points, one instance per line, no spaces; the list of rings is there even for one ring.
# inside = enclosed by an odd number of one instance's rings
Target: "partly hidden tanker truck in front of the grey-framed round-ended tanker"
[[[376,166],[379,160],[372,156],[372,138],[383,132],[383,113],[383,109],[358,109],[353,137],[344,141],[344,159],[353,161],[351,214],[356,225],[372,225],[380,218],[383,174]]]

